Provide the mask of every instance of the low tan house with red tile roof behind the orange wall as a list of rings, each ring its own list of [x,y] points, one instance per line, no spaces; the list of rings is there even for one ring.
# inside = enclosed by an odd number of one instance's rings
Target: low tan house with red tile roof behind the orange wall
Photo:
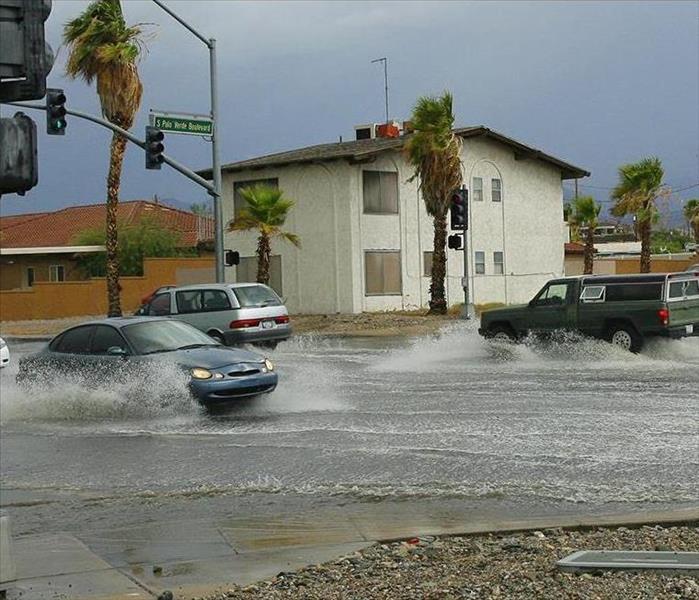
[[[71,206],[56,212],[0,217],[0,290],[31,288],[35,282],[81,281],[76,255],[104,252],[103,246],[78,246],[85,230],[103,228],[105,204]],[[120,226],[152,218],[180,233],[183,248],[211,250],[213,219],[146,200],[119,203]],[[208,276],[213,280],[213,267]],[[195,281],[192,281],[195,283]]]

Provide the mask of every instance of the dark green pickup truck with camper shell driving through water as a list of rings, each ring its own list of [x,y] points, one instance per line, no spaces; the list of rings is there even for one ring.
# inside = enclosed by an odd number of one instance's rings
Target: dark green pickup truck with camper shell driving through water
[[[583,275],[549,281],[528,305],[481,315],[478,332],[518,340],[577,331],[639,352],[649,337],[699,335],[699,271]]]

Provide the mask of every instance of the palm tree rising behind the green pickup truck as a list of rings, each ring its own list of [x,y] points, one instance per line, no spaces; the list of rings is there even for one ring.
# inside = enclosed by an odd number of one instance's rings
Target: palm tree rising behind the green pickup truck
[[[651,226],[658,217],[655,200],[661,193],[663,165],[654,156],[619,167],[619,183],[612,190],[616,217],[634,215],[641,238],[641,273],[650,273]]]

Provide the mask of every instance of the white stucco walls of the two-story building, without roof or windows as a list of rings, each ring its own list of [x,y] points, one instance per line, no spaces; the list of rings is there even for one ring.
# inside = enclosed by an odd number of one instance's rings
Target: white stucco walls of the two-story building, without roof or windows
[[[363,213],[362,170],[398,173],[397,215]],[[483,178],[483,201],[470,194],[468,231],[471,301],[519,303],[529,300],[553,277],[564,274],[563,195],[560,171],[538,160],[515,160],[513,150],[486,138],[464,141],[464,183]],[[281,241],[283,295],[291,312],[330,313],[425,307],[429,278],[423,276],[423,252],[433,246],[432,219],[427,215],[412,170],[398,152],[369,163],[346,161],[290,165],[276,169],[224,173],[224,217],[233,217],[233,182],[276,177],[296,201],[287,229],[301,236],[302,248]],[[502,181],[502,202],[491,200],[491,179]],[[253,256],[252,233],[226,234],[226,248]],[[401,252],[402,295],[364,293],[364,252]],[[486,273],[474,273],[474,253],[486,254]],[[494,274],[493,253],[504,253],[504,275]],[[235,280],[235,269],[227,270]],[[447,301],[463,301],[463,252],[447,250]]]

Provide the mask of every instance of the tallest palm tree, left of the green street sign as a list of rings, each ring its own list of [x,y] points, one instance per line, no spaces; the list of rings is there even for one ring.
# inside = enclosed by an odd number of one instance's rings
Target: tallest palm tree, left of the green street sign
[[[141,28],[128,26],[119,0],[95,0],[77,18],[66,23],[63,41],[68,46],[66,74],[97,82],[104,117],[130,129],[141,105],[143,85],[137,63],[143,43]],[[107,176],[107,300],[109,316],[121,315],[117,209],[126,138],[112,135]]]

